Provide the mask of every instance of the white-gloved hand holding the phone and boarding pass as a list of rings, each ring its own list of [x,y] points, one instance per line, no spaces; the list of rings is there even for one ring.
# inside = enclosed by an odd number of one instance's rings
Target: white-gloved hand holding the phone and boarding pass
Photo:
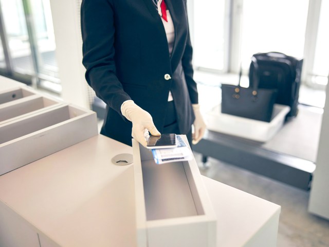
[[[153,123],[152,116],[141,109],[133,100],[126,100],[121,105],[121,113],[133,123],[132,136],[146,147],[149,131],[151,135],[161,135]]]

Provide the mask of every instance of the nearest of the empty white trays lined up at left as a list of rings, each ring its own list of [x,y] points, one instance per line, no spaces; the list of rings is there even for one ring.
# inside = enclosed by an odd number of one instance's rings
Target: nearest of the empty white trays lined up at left
[[[98,134],[96,113],[71,105],[0,125],[0,175]]]

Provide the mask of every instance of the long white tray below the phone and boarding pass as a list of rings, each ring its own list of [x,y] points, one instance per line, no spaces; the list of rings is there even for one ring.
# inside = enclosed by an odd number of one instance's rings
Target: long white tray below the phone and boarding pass
[[[138,247],[216,246],[216,216],[195,160],[157,165],[134,139],[133,153]]]

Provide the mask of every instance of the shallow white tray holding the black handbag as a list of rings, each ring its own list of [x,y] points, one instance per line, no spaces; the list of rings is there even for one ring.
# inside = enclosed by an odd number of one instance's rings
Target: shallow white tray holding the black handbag
[[[267,142],[282,128],[285,116],[290,111],[287,105],[275,104],[270,122],[238,117],[221,112],[216,105],[206,114],[207,128],[212,131],[239,136],[258,142]]]

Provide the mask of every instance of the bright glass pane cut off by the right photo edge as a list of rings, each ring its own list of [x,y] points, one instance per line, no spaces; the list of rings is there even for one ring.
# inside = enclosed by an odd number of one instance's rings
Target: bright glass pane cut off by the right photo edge
[[[329,74],[329,32],[327,31],[329,15],[326,13],[328,9],[329,0],[322,0],[313,67],[313,73],[319,76],[314,78],[318,84],[327,84],[327,76]]]

